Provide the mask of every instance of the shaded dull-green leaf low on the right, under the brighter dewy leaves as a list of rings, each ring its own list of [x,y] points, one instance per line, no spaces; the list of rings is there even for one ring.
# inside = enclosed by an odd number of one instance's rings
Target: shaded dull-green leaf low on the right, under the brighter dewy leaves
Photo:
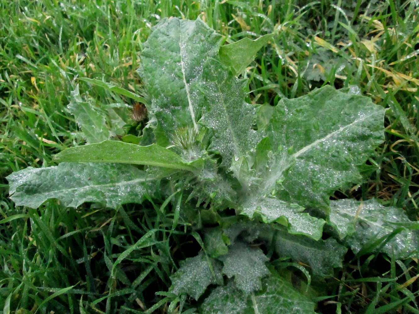
[[[261,238],[267,242],[274,240],[275,252],[279,257],[290,257],[311,267],[314,275],[333,275],[334,268],[341,268],[347,248],[335,239],[317,241],[304,236],[291,235],[281,229],[261,226]]]

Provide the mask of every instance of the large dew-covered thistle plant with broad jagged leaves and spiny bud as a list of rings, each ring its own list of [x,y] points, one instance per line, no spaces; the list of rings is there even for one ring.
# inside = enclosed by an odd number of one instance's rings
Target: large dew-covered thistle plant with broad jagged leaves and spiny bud
[[[329,197],[362,181],[360,165],[384,139],[384,109],[330,86],[281,99],[268,110],[246,103],[247,81],[237,75],[246,77],[248,64],[229,54],[251,62],[269,40],[275,36],[221,46],[221,36],[199,19],[160,21],[144,44],[138,71],[148,92],[147,132],[155,142],[93,143],[97,139],[87,136],[93,144],[57,154],[55,161],[66,163],[10,175],[12,199],[31,207],[50,198],[72,207],[172,202],[174,221],[192,208],[198,222],[181,223],[183,230],[194,228],[195,239],[204,238],[202,251],[173,271],[172,295],[191,296],[203,313],[313,313],[313,302],[279,276],[270,258],[290,258],[326,277],[341,267],[347,247],[356,251],[363,244],[358,225],[350,224],[353,208],[342,214],[333,202],[328,217]],[[248,229],[238,228],[243,221]],[[322,239],[326,223],[336,239]],[[383,225],[378,231],[391,233],[391,224]],[[409,246],[401,256],[411,251]]]

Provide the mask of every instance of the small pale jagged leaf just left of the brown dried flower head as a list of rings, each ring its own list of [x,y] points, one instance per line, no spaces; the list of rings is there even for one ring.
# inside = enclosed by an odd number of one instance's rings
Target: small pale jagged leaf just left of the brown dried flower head
[[[86,142],[99,143],[109,139],[110,134],[105,124],[104,114],[94,108],[93,101],[85,101],[81,98],[78,85],[71,92],[71,101],[67,108],[82,129]]]

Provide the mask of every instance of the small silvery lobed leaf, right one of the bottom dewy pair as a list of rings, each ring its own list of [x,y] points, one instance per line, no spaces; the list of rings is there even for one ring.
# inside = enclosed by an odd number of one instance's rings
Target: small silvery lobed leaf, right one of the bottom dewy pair
[[[234,277],[237,288],[245,294],[261,288],[261,279],[269,274],[265,263],[269,260],[259,247],[249,247],[235,242],[228,247],[228,253],[220,257],[224,263],[222,273]]]

